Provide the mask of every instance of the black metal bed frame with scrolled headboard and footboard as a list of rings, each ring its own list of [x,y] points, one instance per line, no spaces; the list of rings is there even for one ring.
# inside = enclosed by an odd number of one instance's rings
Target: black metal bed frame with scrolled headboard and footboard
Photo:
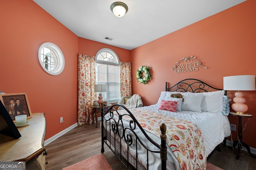
[[[191,82],[192,81],[192,82]],[[191,82],[191,83],[190,83]],[[172,90],[174,89],[174,90]],[[167,82],[165,85],[165,91],[176,91],[176,92],[187,92],[190,91],[192,93],[200,93],[200,92],[208,92],[209,89],[211,89],[210,91],[217,91],[217,90],[223,90],[223,89],[218,89],[215,87],[212,87],[210,85],[208,85],[207,83],[204,83],[203,81],[200,81],[198,79],[184,79],[178,83],[176,83],[174,86],[172,87],[167,87]],[[225,91],[225,95],[226,95],[226,91]],[[123,107],[124,110],[126,110],[126,114],[124,115],[120,115],[118,113],[118,111],[115,109],[116,106],[119,107]],[[109,113],[110,114],[110,119],[106,119],[104,116]],[[113,117],[114,117],[114,113],[117,113],[118,115],[118,121],[116,121]],[[123,124],[123,119],[122,117],[124,116],[129,116],[130,117],[130,122],[129,122],[129,127],[124,127]],[[104,144],[106,144],[110,150],[112,150],[112,152],[116,155],[116,157],[122,162],[122,164],[124,164],[124,166],[129,170],[130,166],[134,166],[134,168],[136,169],[140,169],[139,166],[140,163],[138,162],[138,152],[137,152],[137,147],[138,144],[140,144],[141,146],[143,146],[146,150],[147,150],[147,168],[148,169],[148,153],[149,152],[154,152],[154,153],[159,153],[160,154],[160,158],[162,161],[162,170],[166,170],[166,160],[167,160],[167,147],[166,147],[166,125],[162,124],[160,126],[160,138],[161,138],[161,144],[157,144],[154,140],[152,140],[144,131],[144,129],[140,126],[140,124],[138,123],[138,121],[136,120],[136,118],[134,117],[134,115],[132,115],[132,113],[123,105],[120,104],[114,104],[110,107],[110,109],[108,109],[108,111],[106,111],[106,113],[104,113],[104,108],[101,108],[101,120],[102,120],[102,124],[101,124],[101,135],[102,135],[102,148],[101,148],[101,152],[104,152]],[[104,130],[104,126],[103,126],[103,122],[105,121],[105,127],[107,127],[107,121],[109,121],[109,129],[110,132],[107,133],[107,130]],[[110,125],[110,121],[112,121],[112,124]],[[118,125],[121,125],[121,131],[119,131],[118,129]],[[145,138],[148,139],[148,141],[150,143],[152,143],[154,146],[156,146],[156,148],[158,148],[158,150],[152,150],[150,148],[148,148],[145,144],[143,144],[143,142],[140,140],[140,138],[138,138],[137,134],[134,132],[135,128],[140,128],[141,132],[144,134]],[[111,133],[114,134],[114,138],[111,137]],[[135,136],[135,139],[132,138],[133,134]],[[135,159],[135,163],[131,164],[130,160],[128,157],[129,155],[129,149],[127,149],[127,153],[125,153],[127,156],[124,157],[124,151],[122,150],[122,146],[121,146],[121,142],[116,141],[116,137],[118,137],[120,140],[124,140],[125,143],[127,144],[127,148],[129,148],[129,146],[131,146],[132,144],[136,145],[136,158]],[[114,141],[113,141],[114,140]],[[114,149],[111,147],[114,147]],[[226,138],[224,139],[224,146],[226,146]],[[118,149],[116,149],[118,148]],[[218,150],[220,151],[220,144],[218,146],[216,146],[216,148],[214,150]],[[214,151],[212,151],[213,153]],[[212,154],[211,153],[211,154]],[[211,155],[210,154],[210,155]],[[210,157],[210,155],[208,156],[208,158]]]

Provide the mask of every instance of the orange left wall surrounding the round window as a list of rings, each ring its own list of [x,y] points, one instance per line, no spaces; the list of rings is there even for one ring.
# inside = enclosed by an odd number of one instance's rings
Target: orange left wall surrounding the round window
[[[78,37],[32,0],[1,1],[0,12],[0,90],[27,93],[32,113],[46,114],[47,139],[77,122]],[[44,42],[64,54],[60,75],[40,66],[38,48]]]

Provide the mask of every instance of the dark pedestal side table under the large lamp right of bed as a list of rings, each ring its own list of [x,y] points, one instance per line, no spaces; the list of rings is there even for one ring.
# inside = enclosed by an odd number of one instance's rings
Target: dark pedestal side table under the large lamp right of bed
[[[254,156],[252,153],[251,153],[251,150],[250,150],[250,146],[246,143],[244,143],[242,141],[242,138],[243,138],[243,135],[242,135],[242,117],[252,117],[252,115],[248,114],[248,113],[245,113],[245,114],[238,114],[238,113],[235,113],[235,112],[230,112],[231,115],[233,116],[238,116],[238,140],[235,140],[234,143],[233,143],[233,148],[237,146],[237,155],[236,155],[236,160],[239,159],[240,157],[240,150],[242,148],[242,146],[244,146],[248,153],[252,156],[252,158],[256,158],[256,156]]]

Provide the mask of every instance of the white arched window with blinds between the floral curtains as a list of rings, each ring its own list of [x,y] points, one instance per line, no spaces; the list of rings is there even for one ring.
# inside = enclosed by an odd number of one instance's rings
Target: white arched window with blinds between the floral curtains
[[[120,62],[111,49],[103,48],[96,54],[96,84],[106,84],[106,92],[102,93],[103,100],[108,103],[118,102],[121,95]]]

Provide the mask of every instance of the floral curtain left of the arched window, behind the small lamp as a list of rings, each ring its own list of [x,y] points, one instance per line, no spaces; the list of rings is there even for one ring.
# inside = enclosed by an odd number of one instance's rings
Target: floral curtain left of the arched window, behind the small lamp
[[[96,99],[95,57],[78,55],[78,125],[92,124],[92,101]]]

